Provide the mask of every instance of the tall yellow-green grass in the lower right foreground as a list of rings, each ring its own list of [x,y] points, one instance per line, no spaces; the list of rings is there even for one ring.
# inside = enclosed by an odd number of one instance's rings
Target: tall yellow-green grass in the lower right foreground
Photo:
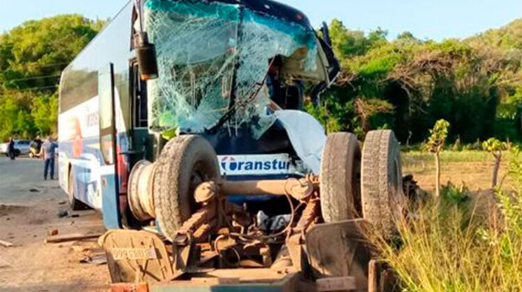
[[[512,193],[446,186],[409,218],[398,238],[374,238],[404,291],[522,291],[522,154],[513,149]]]

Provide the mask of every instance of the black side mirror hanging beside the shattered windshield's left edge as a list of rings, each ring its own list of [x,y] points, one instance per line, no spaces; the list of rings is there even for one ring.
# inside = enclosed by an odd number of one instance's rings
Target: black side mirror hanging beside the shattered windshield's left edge
[[[148,40],[147,33],[136,35],[136,57],[141,72],[141,80],[158,78],[158,63],[156,58],[156,47]]]

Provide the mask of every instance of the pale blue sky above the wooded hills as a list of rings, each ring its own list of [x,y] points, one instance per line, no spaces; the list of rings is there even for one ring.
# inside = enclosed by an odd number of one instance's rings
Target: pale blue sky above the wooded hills
[[[338,18],[349,29],[381,27],[388,38],[410,31],[420,39],[465,38],[522,17],[522,0],[279,0],[302,10],[314,26]],[[28,19],[80,13],[113,17],[127,0],[0,0],[0,32]]]

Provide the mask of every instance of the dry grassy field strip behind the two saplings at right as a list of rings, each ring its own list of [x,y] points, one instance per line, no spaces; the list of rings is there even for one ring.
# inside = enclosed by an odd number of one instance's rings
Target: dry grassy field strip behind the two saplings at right
[[[503,178],[503,188],[513,188],[512,177],[507,177],[509,167],[509,152],[503,153],[500,166],[499,181]],[[491,188],[494,159],[484,151],[443,151],[441,153],[441,181],[456,185],[465,184],[472,190]],[[404,174],[412,174],[418,184],[425,190],[435,189],[435,162],[433,154],[426,152],[402,153],[402,168]]]

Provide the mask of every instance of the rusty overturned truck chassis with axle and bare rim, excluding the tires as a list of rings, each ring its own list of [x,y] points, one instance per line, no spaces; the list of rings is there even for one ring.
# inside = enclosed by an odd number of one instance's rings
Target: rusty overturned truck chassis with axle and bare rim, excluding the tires
[[[154,169],[155,164],[143,163],[132,173],[137,179],[131,177],[129,205],[143,220],[155,218],[150,192]],[[230,195],[267,194],[285,196],[291,206],[290,222],[273,234],[260,230],[242,206],[226,200]],[[365,220],[322,222],[319,196],[314,175],[204,182],[194,192],[200,209],[183,223],[171,245],[147,231],[116,230],[100,238],[113,282],[134,283],[113,288],[170,282],[178,288],[238,284],[242,290],[264,282],[280,291],[377,291],[379,266],[370,262]]]

